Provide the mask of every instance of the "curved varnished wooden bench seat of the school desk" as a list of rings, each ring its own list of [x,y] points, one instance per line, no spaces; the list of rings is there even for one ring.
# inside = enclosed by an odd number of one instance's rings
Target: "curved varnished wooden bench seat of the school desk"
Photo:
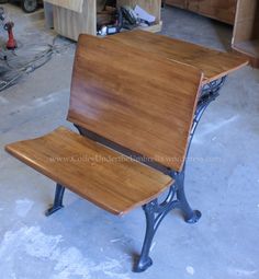
[[[122,214],[170,186],[162,173],[64,127],[5,147],[12,155],[99,207]]]

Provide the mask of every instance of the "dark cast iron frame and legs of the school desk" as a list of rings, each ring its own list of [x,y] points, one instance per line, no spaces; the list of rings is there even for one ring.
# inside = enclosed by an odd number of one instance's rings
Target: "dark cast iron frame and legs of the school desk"
[[[145,271],[148,267],[153,265],[153,260],[149,257],[153,239],[156,234],[156,231],[159,224],[161,223],[162,219],[167,216],[168,212],[170,212],[172,209],[176,209],[176,208],[180,209],[183,213],[184,221],[188,223],[195,223],[201,218],[201,212],[199,210],[193,210],[190,207],[185,197],[185,191],[184,191],[185,162],[187,162],[188,153],[189,153],[192,138],[194,136],[198,124],[204,111],[206,109],[206,107],[211,104],[212,101],[214,101],[218,96],[218,92],[222,85],[224,84],[225,79],[226,77],[223,77],[223,78],[219,78],[218,80],[212,81],[203,85],[200,100],[198,102],[196,111],[194,114],[192,129],[190,132],[184,166],[181,172],[174,172],[173,170],[165,168],[160,165],[157,165],[156,163],[154,164],[150,161],[142,160],[143,163],[146,163],[147,165],[151,165],[153,167],[159,168],[161,172],[166,173],[167,175],[170,175],[172,178],[174,178],[174,184],[169,187],[168,194],[162,202],[159,202],[158,198],[156,198],[151,200],[150,202],[143,206],[143,210],[146,217],[146,233],[145,233],[145,239],[144,239],[140,256],[137,258],[136,264],[134,266],[134,271],[136,272]],[[135,160],[143,159],[140,154],[136,154],[130,150],[126,150],[125,148],[116,144],[115,142],[111,142],[89,130],[86,130],[85,128],[80,126],[77,126],[77,125],[75,126],[77,127],[79,132],[85,137],[88,137],[94,141],[105,144],[106,147],[110,147],[119,152],[122,152],[125,155],[128,155]],[[64,193],[65,193],[65,187],[60,184],[57,184],[54,204],[46,211],[46,216],[50,216],[64,207],[63,206]]]

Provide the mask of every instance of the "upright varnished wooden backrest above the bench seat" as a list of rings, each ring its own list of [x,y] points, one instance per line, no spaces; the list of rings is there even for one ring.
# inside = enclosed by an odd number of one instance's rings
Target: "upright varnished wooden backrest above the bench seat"
[[[180,171],[201,79],[194,67],[81,35],[68,120]]]

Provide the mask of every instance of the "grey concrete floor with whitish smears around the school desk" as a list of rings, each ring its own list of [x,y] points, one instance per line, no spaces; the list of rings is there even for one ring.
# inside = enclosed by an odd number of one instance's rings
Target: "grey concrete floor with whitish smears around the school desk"
[[[43,21],[5,7],[23,49],[53,39]],[[162,16],[167,35],[229,46],[229,26],[177,9]],[[46,218],[54,183],[3,151],[58,125],[71,127],[65,119],[74,49],[0,93],[0,278],[258,279],[259,71],[247,67],[232,74],[196,130],[185,185],[202,219],[190,225],[170,213],[154,242],[154,266],[136,275],[132,254],[144,236],[142,209],[117,218],[67,191],[66,208]]]

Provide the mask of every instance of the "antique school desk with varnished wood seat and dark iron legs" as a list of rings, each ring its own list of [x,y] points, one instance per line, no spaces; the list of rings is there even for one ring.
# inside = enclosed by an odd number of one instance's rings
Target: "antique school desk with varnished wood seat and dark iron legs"
[[[114,214],[142,206],[146,234],[134,270],[144,271],[168,212],[181,209],[189,223],[201,217],[185,198],[185,158],[225,75],[244,65],[238,56],[145,32],[81,35],[68,112],[80,135],[59,127],[5,150],[57,183],[47,216],[63,207],[65,188]]]

